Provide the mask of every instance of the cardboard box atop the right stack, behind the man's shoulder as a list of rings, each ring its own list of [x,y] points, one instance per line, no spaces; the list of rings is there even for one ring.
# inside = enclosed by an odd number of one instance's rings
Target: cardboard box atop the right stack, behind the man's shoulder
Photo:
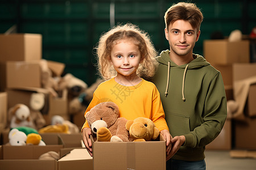
[[[250,41],[205,40],[204,57],[212,65],[250,62]]]

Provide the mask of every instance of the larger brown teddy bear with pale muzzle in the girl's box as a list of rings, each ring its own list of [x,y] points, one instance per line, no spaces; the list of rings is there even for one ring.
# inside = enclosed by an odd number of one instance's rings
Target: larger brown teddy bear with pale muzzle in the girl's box
[[[119,117],[119,108],[115,103],[97,104],[86,113],[85,118],[98,142],[129,141],[129,133],[125,129],[127,120]]]

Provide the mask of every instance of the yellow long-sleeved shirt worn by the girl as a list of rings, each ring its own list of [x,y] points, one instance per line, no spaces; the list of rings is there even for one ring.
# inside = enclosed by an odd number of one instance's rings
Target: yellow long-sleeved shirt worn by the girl
[[[159,131],[168,129],[162,101],[155,84],[144,79],[135,86],[122,86],[115,82],[114,78],[101,83],[94,91],[93,99],[90,102],[85,114],[95,105],[113,101],[118,105],[119,116],[127,120],[134,120],[137,117],[150,118]],[[89,128],[85,121],[83,128]]]

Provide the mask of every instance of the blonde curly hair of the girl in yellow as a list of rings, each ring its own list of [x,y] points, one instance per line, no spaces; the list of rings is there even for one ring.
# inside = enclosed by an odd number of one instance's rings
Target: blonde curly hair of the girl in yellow
[[[97,60],[98,71],[102,78],[108,80],[117,74],[111,63],[111,52],[114,43],[119,40],[131,40],[135,45],[138,45],[141,53],[141,63],[139,64],[137,74],[143,78],[154,76],[158,62],[155,57],[158,53],[150,40],[148,33],[142,31],[137,25],[127,23],[125,25],[117,25],[104,33],[98,42]]]

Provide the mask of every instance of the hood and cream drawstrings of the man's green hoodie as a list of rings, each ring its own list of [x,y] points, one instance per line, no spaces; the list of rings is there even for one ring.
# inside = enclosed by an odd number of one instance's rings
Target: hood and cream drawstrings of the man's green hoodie
[[[182,100],[185,101],[184,84],[185,84],[185,75],[187,73],[187,70],[199,69],[200,67],[204,67],[204,66],[210,65],[210,63],[207,62],[206,59],[204,59],[203,56],[200,56],[198,54],[193,54],[193,57],[195,58],[195,59],[193,59],[193,61],[191,61],[191,62],[189,62],[189,63],[187,63],[185,65],[178,66],[178,65],[176,65],[176,63],[174,63],[170,59],[169,53],[170,53],[170,50],[165,50],[165,51],[161,52],[160,56],[158,56],[156,58],[156,60],[159,63],[162,63],[163,65],[167,66],[166,91],[164,92],[164,95],[165,96],[168,95],[168,87],[169,87],[169,81],[170,81],[170,74],[171,74],[170,70],[171,70],[171,67],[179,67],[180,69],[184,69],[181,93],[182,93]]]

